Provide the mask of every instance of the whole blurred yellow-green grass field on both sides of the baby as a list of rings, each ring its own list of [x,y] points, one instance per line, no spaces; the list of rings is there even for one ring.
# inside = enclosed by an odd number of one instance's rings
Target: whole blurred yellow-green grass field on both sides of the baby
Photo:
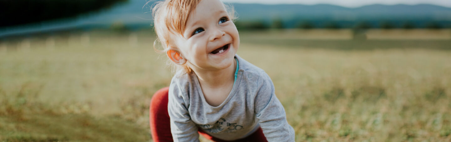
[[[272,78],[296,142],[451,141],[450,30],[381,33],[242,32],[238,54]],[[153,41],[146,31],[2,40],[0,141],[151,141],[148,104],[172,77]]]

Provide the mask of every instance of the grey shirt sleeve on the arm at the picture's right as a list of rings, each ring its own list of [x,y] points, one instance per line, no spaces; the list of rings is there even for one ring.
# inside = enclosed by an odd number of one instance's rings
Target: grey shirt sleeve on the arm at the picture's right
[[[254,101],[255,114],[268,142],[295,142],[295,130],[286,120],[285,109],[277,99],[267,73],[260,73],[258,87]]]

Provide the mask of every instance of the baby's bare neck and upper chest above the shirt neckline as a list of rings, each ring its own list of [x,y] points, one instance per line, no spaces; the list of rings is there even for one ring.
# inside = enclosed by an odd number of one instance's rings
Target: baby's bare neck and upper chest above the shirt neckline
[[[226,69],[205,70],[191,68],[196,73],[201,87],[221,88],[233,85],[235,81],[236,60]]]

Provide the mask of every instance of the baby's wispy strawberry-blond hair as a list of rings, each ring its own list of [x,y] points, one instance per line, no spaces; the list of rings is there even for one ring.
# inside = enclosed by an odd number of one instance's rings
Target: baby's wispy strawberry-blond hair
[[[188,22],[188,18],[191,12],[196,9],[201,0],[162,0],[154,3],[152,9],[154,18],[154,30],[157,39],[153,43],[153,47],[158,53],[166,53],[169,50],[170,36],[182,35]],[[229,18],[235,18],[235,11],[233,7],[228,4],[224,4]],[[156,44],[160,43],[162,50],[158,50]],[[187,64],[175,65],[171,61],[169,64],[172,67],[172,71],[176,72],[180,69],[184,69],[186,73],[191,73],[193,70],[189,68]]]

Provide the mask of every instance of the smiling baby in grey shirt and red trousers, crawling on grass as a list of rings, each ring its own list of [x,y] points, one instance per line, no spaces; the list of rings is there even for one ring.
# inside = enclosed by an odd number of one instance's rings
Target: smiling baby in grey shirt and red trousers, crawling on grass
[[[233,14],[220,0],[156,3],[158,41],[176,73],[152,97],[155,142],[294,142],[271,78],[236,55]]]

